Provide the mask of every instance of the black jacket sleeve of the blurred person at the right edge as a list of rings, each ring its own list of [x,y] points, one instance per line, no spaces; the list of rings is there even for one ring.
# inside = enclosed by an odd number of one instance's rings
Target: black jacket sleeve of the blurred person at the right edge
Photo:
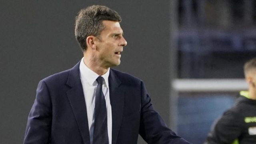
[[[231,144],[241,134],[239,116],[225,112],[212,126],[204,144]]]

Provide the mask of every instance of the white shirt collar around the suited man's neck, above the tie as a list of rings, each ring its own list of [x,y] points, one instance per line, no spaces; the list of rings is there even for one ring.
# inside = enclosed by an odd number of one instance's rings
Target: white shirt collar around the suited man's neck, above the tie
[[[92,71],[90,68],[88,68],[85,64],[84,64],[84,57],[82,58],[81,62],[80,62],[80,76],[82,78],[82,80],[86,80],[91,86],[94,84],[97,84],[96,79],[98,78],[98,74],[96,74],[94,71]],[[104,82],[103,84],[106,84],[107,88],[108,88],[108,76],[109,76],[109,70],[110,68],[108,68],[108,71],[102,75],[102,77],[104,78]]]

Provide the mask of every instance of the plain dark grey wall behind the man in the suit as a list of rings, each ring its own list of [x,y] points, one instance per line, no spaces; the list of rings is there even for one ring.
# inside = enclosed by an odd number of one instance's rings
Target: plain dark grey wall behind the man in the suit
[[[116,10],[128,45],[116,67],[142,79],[155,109],[168,122],[169,0],[1,0],[0,139],[21,144],[38,82],[72,68],[82,52],[74,19],[92,4]],[[142,144],[141,139],[139,143]]]

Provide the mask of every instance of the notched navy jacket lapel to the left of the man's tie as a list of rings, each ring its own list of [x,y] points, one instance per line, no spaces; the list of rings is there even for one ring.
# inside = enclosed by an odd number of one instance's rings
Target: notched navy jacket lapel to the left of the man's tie
[[[80,80],[80,62],[74,66],[69,73],[67,85],[70,86],[70,90],[66,92],[68,100],[74,112],[76,122],[78,124],[81,136],[84,140],[84,144],[90,144],[90,134],[88,128],[88,119],[86,104],[84,99],[84,92],[82,83]]]

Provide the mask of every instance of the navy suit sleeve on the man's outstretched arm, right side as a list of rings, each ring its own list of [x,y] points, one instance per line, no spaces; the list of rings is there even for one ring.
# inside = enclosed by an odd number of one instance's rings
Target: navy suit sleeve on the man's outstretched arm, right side
[[[156,112],[141,82],[142,106],[139,134],[148,144],[190,144],[170,130],[161,116]]]

